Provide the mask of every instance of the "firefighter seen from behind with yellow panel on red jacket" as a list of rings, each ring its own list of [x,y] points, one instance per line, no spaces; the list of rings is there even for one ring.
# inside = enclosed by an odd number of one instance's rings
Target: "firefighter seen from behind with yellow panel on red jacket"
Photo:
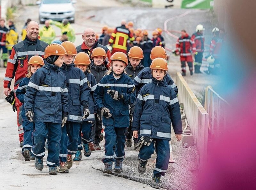
[[[113,44],[112,54],[121,51],[127,54],[127,40],[134,41],[135,38],[128,28],[126,28],[126,21],[122,20],[121,26],[116,27],[108,41],[109,45]]]

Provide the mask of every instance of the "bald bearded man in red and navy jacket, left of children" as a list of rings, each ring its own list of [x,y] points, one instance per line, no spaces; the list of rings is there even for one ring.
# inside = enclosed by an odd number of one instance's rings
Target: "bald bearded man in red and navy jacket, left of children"
[[[11,92],[11,81],[15,77],[14,81],[14,92],[18,89],[19,82],[27,74],[28,61],[34,55],[40,55],[43,57],[45,47],[48,46],[47,43],[40,41],[39,36],[39,24],[36,21],[30,21],[27,23],[26,27],[26,38],[23,41],[15,44],[11,49],[11,54],[7,62],[7,68],[5,73],[5,78],[3,80],[3,92],[8,96]],[[23,127],[22,127],[22,117],[21,117],[21,106],[22,103],[16,98],[13,105],[13,111],[17,111],[17,123],[19,131],[19,147],[26,147],[29,145],[23,145]]]

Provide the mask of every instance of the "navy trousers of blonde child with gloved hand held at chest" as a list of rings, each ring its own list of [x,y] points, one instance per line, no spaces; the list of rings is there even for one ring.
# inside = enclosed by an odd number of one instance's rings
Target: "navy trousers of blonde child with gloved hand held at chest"
[[[126,127],[105,126],[105,157],[103,163],[124,160],[124,147],[126,145]],[[115,149],[113,149],[115,146]]]

